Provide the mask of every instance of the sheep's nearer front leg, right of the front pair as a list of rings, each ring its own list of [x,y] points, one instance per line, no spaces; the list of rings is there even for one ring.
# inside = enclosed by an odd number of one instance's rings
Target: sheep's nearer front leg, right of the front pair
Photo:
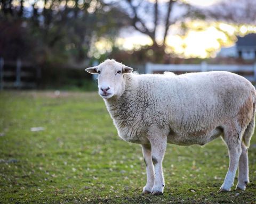
[[[155,169],[155,182],[151,194],[159,195],[164,191],[164,176],[162,162],[166,149],[167,138],[162,135],[155,135],[150,138],[152,162]]]

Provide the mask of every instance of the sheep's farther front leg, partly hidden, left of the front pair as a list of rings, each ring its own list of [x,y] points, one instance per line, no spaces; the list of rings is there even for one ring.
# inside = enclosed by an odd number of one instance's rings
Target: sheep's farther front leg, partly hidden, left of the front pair
[[[149,145],[141,145],[142,153],[144,157],[144,162],[146,164],[147,169],[147,184],[143,188],[143,193],[148,194],[151,193],[151,190],[154,185],[155,176],[154,176],[154,166],[151,157],[151,146]]]

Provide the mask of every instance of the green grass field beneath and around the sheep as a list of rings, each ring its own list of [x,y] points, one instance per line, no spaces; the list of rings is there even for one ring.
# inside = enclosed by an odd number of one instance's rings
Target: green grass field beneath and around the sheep
[[[249,162],[246,191],[218,194],[228,168],[221,139],[168,145],[164,195],[143,195],[141,147],[119,139],[96,93],[0,92],[0,203],[256,203],[255,135]]]

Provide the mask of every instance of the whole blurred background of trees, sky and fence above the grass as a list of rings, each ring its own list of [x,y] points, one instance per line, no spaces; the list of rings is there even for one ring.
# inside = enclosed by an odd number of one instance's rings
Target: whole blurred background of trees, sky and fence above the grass
[[[96,90],[84,69],[106,58],[254,82],[255,10],[255,0],[1,0],[0,88]]]

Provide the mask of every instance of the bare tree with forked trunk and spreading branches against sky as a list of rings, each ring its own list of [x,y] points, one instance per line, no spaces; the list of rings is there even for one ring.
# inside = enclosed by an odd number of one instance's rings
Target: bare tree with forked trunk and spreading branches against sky
[[[129,10],[123,9],[123,12],[129,15],[131,20],[130,25],[135,30],[149,36],[153,41],[154,47],[164,48],[171,25],[182,22],[193,13],[193,7],[182,1],[125,0],[121,2],[123,7],[127,6],[129,8]]]

